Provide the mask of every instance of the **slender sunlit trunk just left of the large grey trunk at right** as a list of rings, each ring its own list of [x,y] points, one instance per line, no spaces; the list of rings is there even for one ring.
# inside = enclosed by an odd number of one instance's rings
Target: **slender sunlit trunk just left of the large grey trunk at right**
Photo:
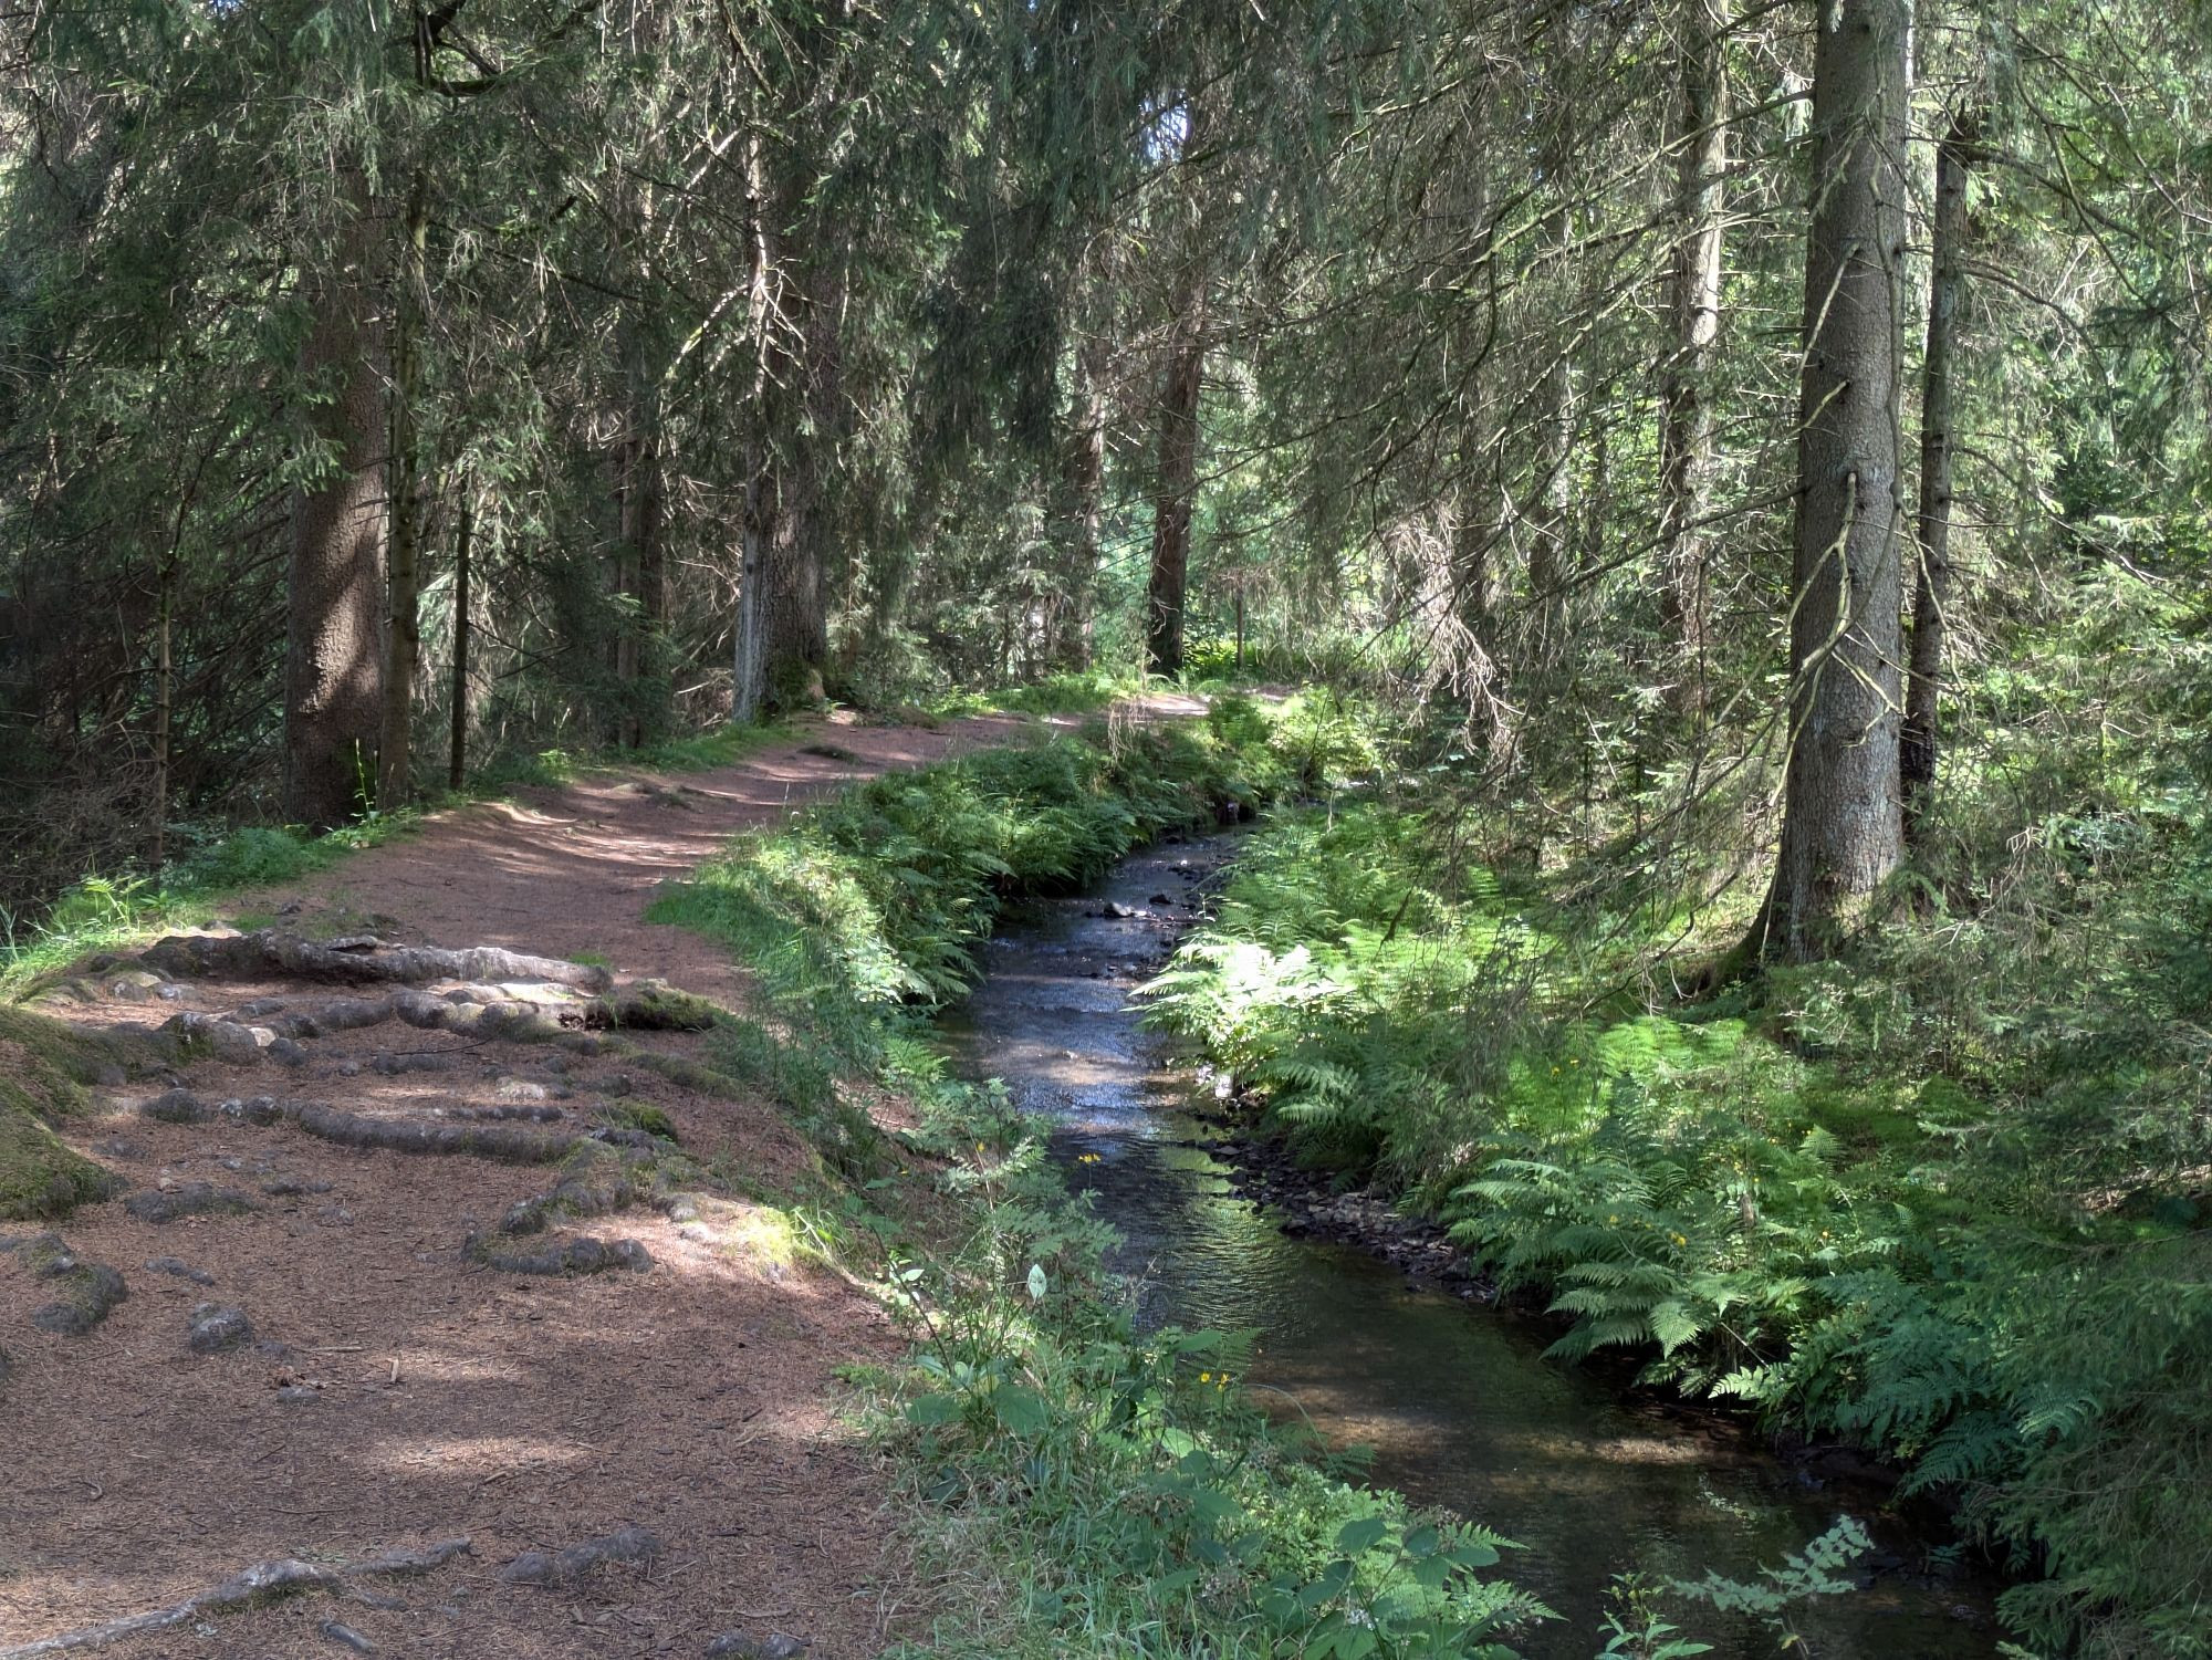
[[[1721,197],[1728,170],[1725,0],[1683,0],[1674,186],[1674,352],[1659,401],[1659,602],[1681,660],[1674,704],[1705,706],[1712,629],[1708,538],[1712,474],[1712,347],[1721,334]]]

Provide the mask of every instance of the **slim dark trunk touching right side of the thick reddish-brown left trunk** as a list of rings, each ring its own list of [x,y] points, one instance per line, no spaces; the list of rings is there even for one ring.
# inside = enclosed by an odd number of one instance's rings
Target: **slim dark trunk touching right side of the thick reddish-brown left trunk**
[[[392,615],[385,624],[385,715],[376,748],[376,806],[400,808],[414,795],[414,677],[422,662],[422,458],[416,398],[422,387],[425,239],[429,237],[429,168],[407,186],[400,270],[392,303],[392,454],[389,573]]]

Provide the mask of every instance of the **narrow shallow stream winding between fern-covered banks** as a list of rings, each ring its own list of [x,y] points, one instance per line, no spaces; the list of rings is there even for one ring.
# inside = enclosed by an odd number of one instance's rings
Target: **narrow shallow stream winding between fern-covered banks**
[[[958,1065],[1002,1078],[1057,1122],[1053,1151],[1124,1237],[1115,1266],[1146,1321],[1256,1330],[1248,1386],[1332,1445],[1374,1450],[1371,1476],[1526,1547],[1506,1571],[1562,1618],[1522,1633],[1531,1660],[1588,1660],[1615,1574],[1754,1578],[1838,1514],[1876,1538],[1871,1585],[1820,1598],[1796,1629],[1816,1660],[1986,1660],[1991,1587],[1931,1556],[1940,1538],[1750,1436],[1624,1397],[1542,1357],[1542,1321],[1469,1304],[1354,1246],[1296,1239],[1232,1193],[1192,1116],[1199,1080],[1139,1025],[1130,994],[1194,914],[1234,837],[1164,843],[1093,892],[1009,912],[987,978],[945,1018]],[[1097,1162],[1077,1164],[1084,1153]],[[1719,1660],[1774,1633],[1708,1614]]]

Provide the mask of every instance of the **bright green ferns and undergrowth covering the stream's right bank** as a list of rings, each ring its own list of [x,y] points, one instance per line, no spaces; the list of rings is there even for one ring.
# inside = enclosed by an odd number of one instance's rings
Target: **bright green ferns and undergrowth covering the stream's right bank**
[[[2205,1656],[2212,834],[2128,823],[2046,826],[2064,954],[1911,919],[1681,1003],[1639,972],[1679,916],[1597,914],[1455,857],[1442,815],[1340,799],[1250,843],[1157,1018],[1305,1160],[1548,1299],[1557,1355],[1641,1355],[1953,1490],[2033,1651]],[[2108,870],[2077,837],[2146,845]]]

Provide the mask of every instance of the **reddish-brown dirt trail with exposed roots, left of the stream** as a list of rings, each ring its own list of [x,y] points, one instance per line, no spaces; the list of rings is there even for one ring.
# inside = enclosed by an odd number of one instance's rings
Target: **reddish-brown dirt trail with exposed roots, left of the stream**
[[[710,945],[641,921],[657,883],[856,777],[1035,730],[825,724],[712,772],[471,806],[239,910],[582,956],[739,1007]],[[812,1162],[772,1104],[655,1071],[641,1047],[681,1036],[584,1031],[577,987],[170,969],[44,1005],[217,1025],[215,1056],[71,1124],[131,1182],[58,1226],[71,1255],[0,1255],[0,1656],[276,1558],[336,1578],[102,1651],[741,1656],[792,1633],[821,1660],[898,1633],[883,1472],[834,1412],[836,1368],[896,1339],[737,1197]],[[126,1297],[84,1335],[42,1330],[58,1297],[102,1301],[97,1264]],[[513,1270],[549,1264],[604,1270]],[[343,1574],[453,1538],[469,1552],[418,1576]],[[526,1556],[608,1538],[611,1560]]]

